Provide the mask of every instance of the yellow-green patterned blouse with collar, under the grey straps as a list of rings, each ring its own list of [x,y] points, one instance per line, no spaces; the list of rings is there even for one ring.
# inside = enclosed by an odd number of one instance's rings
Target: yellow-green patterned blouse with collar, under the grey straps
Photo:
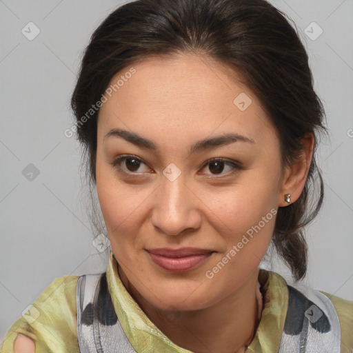
[[[55,279],[34,301],[30,310],[10,327],[1,353],[14,352],[14,340],[19,333],[34,340],[36,353],[79,352],[76,320],[78,278],[79,276],[63,276]],[[119,278],[112,252],[107,281],[121,326],[137,352],[190,353],[170,341],[132,299]],[[274,353],[279,350],[281,343],[288,309],[288,287],[282,276],[267,270],[260,270],[259,281],[265,292],[263,312],[246,353]],[[339,316],[341,353],[353,353],[353,301],[320,292],[330,298]]]

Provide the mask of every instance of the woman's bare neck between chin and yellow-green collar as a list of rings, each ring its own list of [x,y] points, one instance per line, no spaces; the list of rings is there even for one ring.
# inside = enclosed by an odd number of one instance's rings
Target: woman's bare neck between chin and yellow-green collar
[[[243,353],[250,345],[262,309],[257,282],[259,270],[254,271],[236,292],[212,307],[184,312],[165,312],[151,305],[134,289],[120,266],[118,272],[143,312],[179,347],[194,353]]]

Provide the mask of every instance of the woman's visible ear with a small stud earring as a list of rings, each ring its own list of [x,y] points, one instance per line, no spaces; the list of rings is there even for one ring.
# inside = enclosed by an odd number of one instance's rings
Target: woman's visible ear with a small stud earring
[[[294,203],[299,199],[312,161],[314,141],[315,138],[312,133],[305,134],[305,137],[302,139],[303,152],[301,153],[299,160],[284,168],[279,189],[279,207],[290,205],[290,203]],[[285,201],[285,194],[290,194],[290,203]]]

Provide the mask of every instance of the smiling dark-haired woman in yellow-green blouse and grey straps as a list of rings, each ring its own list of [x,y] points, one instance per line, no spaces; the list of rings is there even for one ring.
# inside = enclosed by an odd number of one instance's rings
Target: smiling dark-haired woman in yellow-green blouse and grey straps
[[[2,352],[353,352],[353,301],[299,283],[325,128],[279,10],[127,3],[92,35],[72,108],[108,269],[56,279]],[[294,285],[259,269],[271,244]]]

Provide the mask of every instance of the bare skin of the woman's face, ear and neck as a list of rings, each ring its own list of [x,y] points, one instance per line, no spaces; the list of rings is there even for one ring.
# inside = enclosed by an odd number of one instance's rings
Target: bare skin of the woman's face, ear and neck
[[[212,279],[205,272],[270,210],[288,205],[285,194],[292,202],[299,198],[314,137],[303,139],[301,160],[285,167],[276,129],[236,72],[194,54],[149,57],[133,67],[136,73],[99,110],[97,130],[97,194],[119,276],[177,345],[195,353],[243,352],[256,327],[259,264],[275,216]],[[245,111],[233,103],[241,92],[252,99]],[[158,149],[121,137],[104,139],[113,128],[148,138]],[[196,141],[229,132],[255,143],[238,141],[190,154]],[[112,165],[123,154],[138,157],[140,165],[131,169],[131,159]],[[223,164],[217,174],[214,164],[205,163],[212,158],[241,163],[243,169]],[[181,172],[174,181],[163,174],[170,163]],[[194,270],[170,273],[145,251],[182,247],[214,254]]]

